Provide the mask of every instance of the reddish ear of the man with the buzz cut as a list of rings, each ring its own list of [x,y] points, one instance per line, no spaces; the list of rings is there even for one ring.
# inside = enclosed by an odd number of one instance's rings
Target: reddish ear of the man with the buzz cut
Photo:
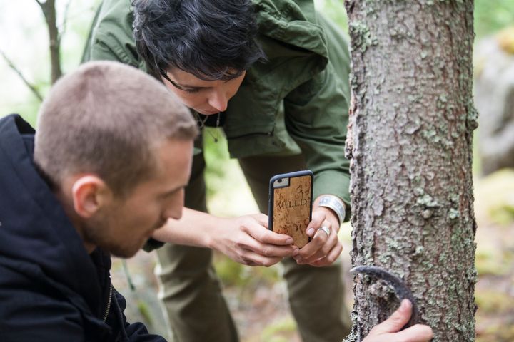
[[[96,175],[77,178],[71,187],[71,197],[76,214],[84,218],[93,216],[113,198],[106,182]]]

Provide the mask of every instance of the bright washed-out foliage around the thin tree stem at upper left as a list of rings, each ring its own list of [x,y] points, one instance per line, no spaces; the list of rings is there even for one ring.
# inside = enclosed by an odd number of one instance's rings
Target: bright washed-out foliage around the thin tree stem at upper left
[[[100,1],[56,1],[57,26],[61,32],[64,31],[61,37],[61,68],[64,73],[79,65],[87,33]],[[0,1],[0,12],[0,29],[6,33],[0,39],[0,50],[6,53],[42,95],[46,95],[50,88],[49,42],[39,5],[36,1]],[[8,16],[10,21],[6,20]],[[12,22],[16,26],[12,26]],[[7,39],[7,36],[15,38]],[[0,74],[0,117],[19,113],[31,125],[35,125],[40,101],[21,83],[19,76],[1,57]]]

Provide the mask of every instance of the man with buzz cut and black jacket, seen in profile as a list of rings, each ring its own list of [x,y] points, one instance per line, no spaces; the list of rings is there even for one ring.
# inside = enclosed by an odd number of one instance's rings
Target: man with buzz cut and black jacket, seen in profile
[[[0,119],[2,342],[164,341],[126,322],[109,254],[181,217],[196,134],[161,83],[114,62],[56,83],[35,157],[29,123]]]

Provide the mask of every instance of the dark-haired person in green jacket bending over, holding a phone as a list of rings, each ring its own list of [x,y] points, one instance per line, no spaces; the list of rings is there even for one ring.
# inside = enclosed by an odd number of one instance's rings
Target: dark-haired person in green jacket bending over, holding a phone
[[[350,203],[349,57],[338,28],[309,0],[105,0],[84,53],[91,59],[147,71],[191,108],[200,128],[223,128],[261,212],[272,175],[314,172],[311,242],[299,250],[266,229],[264,214],[206,213],[197,141],[183,218],[153,235],[173,242],[158,249],[158,276],[178,340],[238,341],[211,265],[217,249],[251,266],[282,261],[303,341],[341,341],[350,327],[337,261]]]

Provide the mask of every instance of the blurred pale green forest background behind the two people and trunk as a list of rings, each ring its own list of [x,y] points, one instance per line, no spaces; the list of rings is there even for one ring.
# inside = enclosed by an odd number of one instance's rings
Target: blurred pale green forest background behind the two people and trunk
[[[64,73],[74,70],[80,63],[99,2],[56,0]],[[316,6],[336,21],[343,31],[348,31],[342,0],[317,0]],[[0,32],[0,117],[19,113],[34,125],[41,101],[21,80],[19,73],[41,95],[49,90],[48,31],[41,8],[34,0],[0,0]],[[514,1],[475,0],[475,33],[475,75],[478,76],[488,62],[489,51],[485,51],[483,46],[495,41],[501,40],[510,46],[506,50],[513,54],[510,61],[514,67]],[[14,66],[10,66],[7,59]],[[483,115],[483,120],[487,113],[480,115]],[[221,139],[215,143],[211,137],[219,133],[211,133],[204,135],[210,211],[224,217],[257,212],[238,163],[228,160],[226,141]],[[476,266],[479,273],[475,293],[478,303],[477,341],[514,341],[514,170],[503,169],[481,176],[478,145],[480,141],[475,134],[477,148],[473,172],[478,221]],[[345,247],[341,255],[345,269],[350,267],[350,232],[351,226],[344,224],[340,235]],[[126,263],[116,260],[113,277],[116,288],[129,297],[129,303],[136,304],[128,312],[129,319],[145,321],[152,331],[166,334],[156,299],[154,265],[153,254],[140,252]],[[280,266],[242,266],[221,254],[216,254],[215,266],[244,342],[299,341],[288,311],[286,285],[280,276]],[[349,274],[345,281],[346,300],[351,307],[352,278]]]

